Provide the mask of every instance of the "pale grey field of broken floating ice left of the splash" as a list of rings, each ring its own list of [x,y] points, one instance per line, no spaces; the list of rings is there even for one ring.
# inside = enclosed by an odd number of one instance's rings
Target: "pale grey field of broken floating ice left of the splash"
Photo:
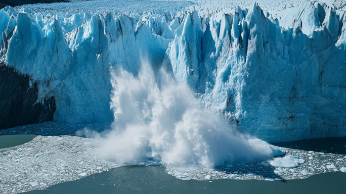
[[[0,158],[1,193],[44,189],[116,167],[95,154],[93,139],[66,135],[37,136],[1,149]]]

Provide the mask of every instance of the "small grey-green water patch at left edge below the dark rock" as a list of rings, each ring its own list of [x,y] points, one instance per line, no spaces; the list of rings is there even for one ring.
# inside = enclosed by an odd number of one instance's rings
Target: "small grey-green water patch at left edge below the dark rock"
[[[0,135],[0,149],[10,148],[31,141],[37,135]]]

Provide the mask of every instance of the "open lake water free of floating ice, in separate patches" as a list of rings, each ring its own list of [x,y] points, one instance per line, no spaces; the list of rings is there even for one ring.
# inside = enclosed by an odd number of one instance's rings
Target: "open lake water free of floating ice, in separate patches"
[[[13,147],[36,135],[0,136],[0,148]],[[346,138],[274,143],[300,150],[346,153]],[[345,144],[345,145],[344,145]],[[332,149],[331,149],[332,148]],[[124,166],[27,193],[346,193],[346,173],[329,172],[297,180],[180,180],[160,166]]]

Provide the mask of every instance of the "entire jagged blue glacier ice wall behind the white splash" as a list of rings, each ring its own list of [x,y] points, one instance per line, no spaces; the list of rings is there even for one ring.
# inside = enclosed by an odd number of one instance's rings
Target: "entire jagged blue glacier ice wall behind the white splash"
[[[7,7],[0,57],[37,82],[36,103],[55,96],[59,122],[114,120],[110,72],[137,76],[145,59],[240,132],[272,142],[345,136],[342,9],[305,1],[126,16]]]

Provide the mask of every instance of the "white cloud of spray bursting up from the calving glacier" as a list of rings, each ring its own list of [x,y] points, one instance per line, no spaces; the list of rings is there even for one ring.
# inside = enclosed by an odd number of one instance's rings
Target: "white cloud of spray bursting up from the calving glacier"
[[[246,139],[219,114],[199,106],[185,84],[144,64],[138,77],[114,71],[114,130],[98,137],[98,151],[118,163],[154,159],[166,165],[213,167],[284,154],[260,139]]]

